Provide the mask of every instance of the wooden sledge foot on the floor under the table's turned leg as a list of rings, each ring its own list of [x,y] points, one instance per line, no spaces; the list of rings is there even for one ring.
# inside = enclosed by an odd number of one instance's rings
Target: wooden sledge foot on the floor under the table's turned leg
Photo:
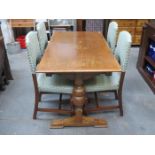
[[[66,119],[54,120],[50,124],[50,128],[63,128],[65,126],[70,127],[84,127],[84,126],[94,126],[100,128],[107,127],[107,121],[104,119],[97,119],[93,117],[82,117],[82,121],[77,121],[76,117],[70,117]]]

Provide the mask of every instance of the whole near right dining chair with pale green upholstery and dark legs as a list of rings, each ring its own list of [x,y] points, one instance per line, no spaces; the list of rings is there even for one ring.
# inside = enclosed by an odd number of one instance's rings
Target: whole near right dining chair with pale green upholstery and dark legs
[[[123,81],[125,77],[125,73],[127,70],[127,64],[129,59],[129,53],[131,48],[132,38],[129,32],[122,31],[119,33],[117,46],[115,49],[115,56],[118,62],[121,65],[122,72],[112,72],[110,76],[105,74],[97,75],[95,78],[86,81],[85,87],[87,92],[114,92],[115,99],[118,100],[118,105],[113,106],[98,106],[96,109],[92,109],[91,111],[97,110],[105,110],[105,109],[120,109],[120,115],[123,116],[123,107],[122,107],[122,88]],[[97,94],[96,94],[97,95]],[[89,110],[88,110],[89,111]]]

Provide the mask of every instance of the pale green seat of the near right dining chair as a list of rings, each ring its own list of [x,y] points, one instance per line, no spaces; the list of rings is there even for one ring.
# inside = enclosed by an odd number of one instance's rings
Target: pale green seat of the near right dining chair
[[[100,92],[117,90],[119,88],[120,73],[112,73],[111,76],[100,74],[85,82],[87,92]]]

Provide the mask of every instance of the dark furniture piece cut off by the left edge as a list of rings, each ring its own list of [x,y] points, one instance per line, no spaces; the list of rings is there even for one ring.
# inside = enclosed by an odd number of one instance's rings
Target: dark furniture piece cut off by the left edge
[[[8,84],[8,80],[12,80],[12,74],[8,57],[6,54],[4,40],[0,29],[0,90],[4,90],[4,85]]]

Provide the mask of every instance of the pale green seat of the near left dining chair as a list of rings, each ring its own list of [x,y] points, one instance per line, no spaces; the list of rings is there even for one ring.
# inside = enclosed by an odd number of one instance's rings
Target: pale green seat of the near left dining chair
[[[61,75],[46,76],[44,73],[37,74],[40,92],[71,94],[73,81],[63,78]]]

